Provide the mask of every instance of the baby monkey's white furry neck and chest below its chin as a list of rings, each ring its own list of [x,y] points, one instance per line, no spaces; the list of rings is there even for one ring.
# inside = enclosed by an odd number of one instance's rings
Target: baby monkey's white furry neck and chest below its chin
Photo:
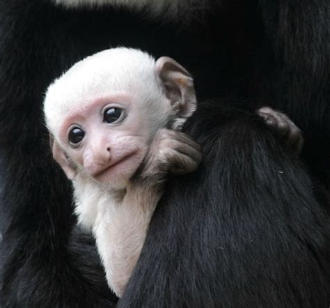
[[[119,297],[139,259],[152,213],[161,196],[151,190],[125,197],[124,193],[100,190],[100,185],[81,175],[74,180],[79,224],[93,231],[107,282]],[[150,201],[146,198],[149,195]]]

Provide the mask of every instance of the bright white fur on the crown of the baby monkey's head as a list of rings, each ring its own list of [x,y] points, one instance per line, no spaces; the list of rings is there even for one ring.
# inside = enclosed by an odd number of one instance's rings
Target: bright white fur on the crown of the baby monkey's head
[[[134,93],[146,113],[152,114],[157,107],[158,115],[167,116],[162,110],[165,95],[155,72],[155,59],[138,49],[118,47],[79,61],[49,86],[44,102],[47,128],[56,138],[70,111],[88,105],[95,95],[107,98],[122,93]]]

